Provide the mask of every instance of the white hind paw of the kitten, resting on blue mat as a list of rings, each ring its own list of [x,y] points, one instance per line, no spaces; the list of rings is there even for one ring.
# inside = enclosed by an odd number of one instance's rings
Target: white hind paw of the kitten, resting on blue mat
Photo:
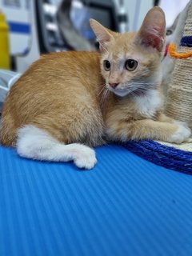
[[[81,151],[78,151],[78,154],[76,154],[74,158],[74,164],[78,166],[78,168],[90,170],[94,168],[96,163],[97,159],[94,150],[87,146],[82,146]]]

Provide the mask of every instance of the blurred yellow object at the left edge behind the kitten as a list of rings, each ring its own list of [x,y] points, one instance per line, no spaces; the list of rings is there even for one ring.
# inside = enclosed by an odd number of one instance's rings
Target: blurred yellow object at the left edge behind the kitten
[[[9,26],[0,10],[0,69],[10,69]]]

